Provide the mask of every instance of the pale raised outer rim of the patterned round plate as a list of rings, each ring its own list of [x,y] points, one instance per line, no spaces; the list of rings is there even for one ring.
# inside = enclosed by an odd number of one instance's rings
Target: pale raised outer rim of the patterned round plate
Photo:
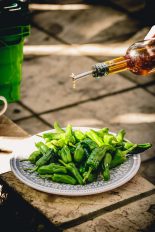
[[[65,128],[64,128],[65,129]],[[90,129],[94,129],[94,130],[99,130],[98,128],[90,128],[90,127],[73,127],[74,130],[76,129],[81,129],[81,130],[90,130]],[[44,132],[39,133],[39,135],[43,134],[43,133],[47,133],[47,132],[53,132],[54,129],[52,130],[47,130]],[[112,133],[112,132],[111,132]],[[115,134],[115,133],[112,133]],[[31,138],[35,139],[36,135],[32,136]],[[20,171],[18,170],[17,167],[17,163],[19,162],[19,159],[17,159],[16,157],[13,157],[10,159],[10,166],[11,166],[11,170],[14,173],[14,175],[24,184],[28,185],[29,187],[45,192],[45,193],[50,193],[50,194],[57,194],[57,195],[65,195],[65,196],[84,196],[84,195],[93,195],[93,194],[98,194],[98,193],[102,193],[102,192],[107,192],[110,190],[113,190],[117,187],[122,186],[123,184],[127,183],[129,180],[131,180],[136,173],[139,170],[140,167],[140,163],[141,163],[141,158],[140,158],[140,154],[136,154],[132,156],[133,158],[133,165],[130,169],[130,171],[120,180],[116,181],[115,184],[112,184],[110,186],[101,186],[101,187],[97,187],[95,189],[90,189],[88,190],[83,190],[83,189],[79,189],[79,190],[57,190],[55,188],[49,188],[46,186],[41,186],[39,184],[37,184],[34,181],[29,180],[28,178],[26,178],[24,175],[22,175],[20,173]]]

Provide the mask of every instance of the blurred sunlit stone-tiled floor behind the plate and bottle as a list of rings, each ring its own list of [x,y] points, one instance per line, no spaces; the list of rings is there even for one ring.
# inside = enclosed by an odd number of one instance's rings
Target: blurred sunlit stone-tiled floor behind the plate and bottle
[[[31,35],[24,45],[21,100],[6,115],[29,134],[61,126],[124,128],[136,143],[155,144],[155,75],[129,71],[77,83],[70,74],[122,56],[155,24],[153,0],[30,1]],[[153,183],[155,146],[141,173]]]

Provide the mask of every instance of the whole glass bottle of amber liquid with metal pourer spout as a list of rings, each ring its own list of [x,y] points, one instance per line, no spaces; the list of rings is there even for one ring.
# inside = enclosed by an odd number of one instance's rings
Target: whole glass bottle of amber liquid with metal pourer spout
[[[89,75],[98,79],[125,70],[137,75],[148,75],[155,72],[155,38],[136,42],[127,49],[125,56],[95,64],[91,71],[78,75],[72,74],[72,78],[75,84],[76,80]]]

